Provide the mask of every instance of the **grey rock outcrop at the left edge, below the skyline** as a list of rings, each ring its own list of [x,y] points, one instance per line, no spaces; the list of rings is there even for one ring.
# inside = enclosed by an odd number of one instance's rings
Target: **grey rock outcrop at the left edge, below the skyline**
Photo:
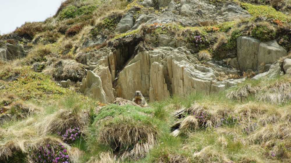
[[[21,45],[13,45],[6,43],[0,47],[0,59],[7,61],[19,59],[26,56],[24,49]]]

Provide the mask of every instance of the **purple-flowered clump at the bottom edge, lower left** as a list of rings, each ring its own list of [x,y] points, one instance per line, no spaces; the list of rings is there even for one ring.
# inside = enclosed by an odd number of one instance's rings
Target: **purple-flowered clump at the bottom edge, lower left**
[[[54,147],[51,144],[47,144],[45,148],[40,147],[38,151],[32,149],[29,151],[31,151],[29,157],[36,162],[70,163],[68,152],[61,143]]]

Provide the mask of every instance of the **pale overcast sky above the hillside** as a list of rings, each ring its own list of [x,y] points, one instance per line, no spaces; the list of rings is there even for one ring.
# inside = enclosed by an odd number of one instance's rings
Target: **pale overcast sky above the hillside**
[[[14,31],[25,22],[53,16],[64,0],[0,0],[0,34]]]

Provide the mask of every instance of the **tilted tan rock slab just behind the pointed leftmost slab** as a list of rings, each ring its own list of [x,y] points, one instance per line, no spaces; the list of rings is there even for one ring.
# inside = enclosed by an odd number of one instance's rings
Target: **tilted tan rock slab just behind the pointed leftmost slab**
[[[93,72],[98,75],[102,81],[102,88],[106,94],[107,102],[112,103],[115,98],[112,88],[112,77],[108,66],[102,64],[95,68]]]

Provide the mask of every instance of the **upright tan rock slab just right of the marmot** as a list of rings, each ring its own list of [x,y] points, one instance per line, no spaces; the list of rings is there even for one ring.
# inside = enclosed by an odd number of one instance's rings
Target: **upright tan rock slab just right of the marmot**
[[[162,100],[170,96],[164,78],[165,71],[165,67],[161,63],[152,63],[150,67],[150,101]]]

